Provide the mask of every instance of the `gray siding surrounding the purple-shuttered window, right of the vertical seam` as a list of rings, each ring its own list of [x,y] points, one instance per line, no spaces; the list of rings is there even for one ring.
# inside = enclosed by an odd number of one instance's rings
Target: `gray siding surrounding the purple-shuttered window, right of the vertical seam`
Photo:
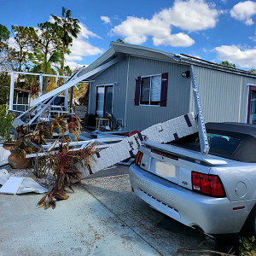
[[[144,130],[148,126],[175,118],[189,111],[189,79],[184,79],[181,73],[189,70],[186,65],[165,61],[154,61],[131,57],[128,77],[127,105],[125,129]],[[167,106],[135,106],[135,85],[138,76],[169,73]]]

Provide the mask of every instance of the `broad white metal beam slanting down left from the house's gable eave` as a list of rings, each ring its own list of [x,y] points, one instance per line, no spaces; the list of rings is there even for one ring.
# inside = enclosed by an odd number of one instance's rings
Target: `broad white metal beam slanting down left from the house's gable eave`
[[[118,61],[121,61],[123,58],[124,58],[124,56],[119,56],[119,57],[113,59],[112,61],[109,61],[108,63],[103,64],[100,67],[96,67],[96,69],[94,69],[88,73],[84,73],[84,75],[81,75],[77,79],[69,80],[67,82],[67,84],[63,84],[61,87],[58,87],[55,90],[49,91],[48,93],[44,94],[43,96],[40,96],[37,99],[30,102],[30,107],[33,107],[33,106],[37,105],[39,102],[42,102],[45,99],[48,99],[49,97],[54,96],[56,93],[61,93],[62,91],[67,90],[68,88],[74,86],[75,84],[78,84],[80,81],[82,81],[84,79],[88,79],[88,78],[90,78],[90,76],[92,76],[96,73],[99,73],[99,72],[107,69],[108,67],[111,67],[113,64],[117,63]]]

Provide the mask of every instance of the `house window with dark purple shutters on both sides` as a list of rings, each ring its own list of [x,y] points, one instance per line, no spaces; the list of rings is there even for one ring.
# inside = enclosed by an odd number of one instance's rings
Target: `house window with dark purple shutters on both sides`
[[[135,106],[157,105],[166,107],[168,73],[136,79]]]

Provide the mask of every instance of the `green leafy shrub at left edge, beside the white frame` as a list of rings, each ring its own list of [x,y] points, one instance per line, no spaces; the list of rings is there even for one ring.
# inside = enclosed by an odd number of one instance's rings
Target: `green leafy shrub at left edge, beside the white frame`
[[[3,148],[10,150],[14,146],[11,137],[12,123],[15,119],[14,113],[7,113],[8,106],[3,104],[0,106],[0,137],[3,139]]]

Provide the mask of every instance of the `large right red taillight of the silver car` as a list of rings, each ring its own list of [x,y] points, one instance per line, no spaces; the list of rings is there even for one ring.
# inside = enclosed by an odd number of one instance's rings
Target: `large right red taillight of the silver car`
[[[192,189],[201,194],[224,197],[224,187],[218,175],[192,172]]]

